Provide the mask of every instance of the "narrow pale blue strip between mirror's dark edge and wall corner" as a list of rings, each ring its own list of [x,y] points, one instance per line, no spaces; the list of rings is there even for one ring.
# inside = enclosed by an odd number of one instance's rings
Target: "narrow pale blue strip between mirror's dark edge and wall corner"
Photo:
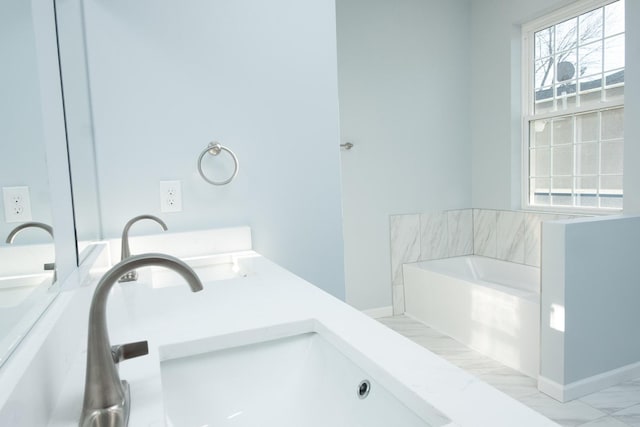
[[[55,0],[79,264],[102,238],[81,0]]]

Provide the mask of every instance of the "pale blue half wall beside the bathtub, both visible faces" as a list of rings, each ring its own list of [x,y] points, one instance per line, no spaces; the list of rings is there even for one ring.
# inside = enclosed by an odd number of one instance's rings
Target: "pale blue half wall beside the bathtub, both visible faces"
[[[639,242],[638,216],[544,224],[540,306],[544,378],[571,386],[640,361],[640,341],[634,338],[640,322]],[[564,307],[564,330],[551,326],[554,304]],[[624,379],[612,377],[614,382]]]

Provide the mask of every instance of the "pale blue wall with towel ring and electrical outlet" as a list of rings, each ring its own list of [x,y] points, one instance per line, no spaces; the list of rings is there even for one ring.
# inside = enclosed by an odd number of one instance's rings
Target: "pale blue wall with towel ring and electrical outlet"
[[[104,236],[141,213],[173,231],[249,224],[258,251],[343,298],[333,2],[87,0],[85,14]],[[230,185],[197,173],[212,140],[239,158]],[[176,179],[183,211],[161,214],[159,181]]]

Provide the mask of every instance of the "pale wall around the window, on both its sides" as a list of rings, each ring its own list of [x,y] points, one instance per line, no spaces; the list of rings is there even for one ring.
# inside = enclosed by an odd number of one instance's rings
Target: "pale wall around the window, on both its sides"
[[[567,0],[472,0],[473,207],[521,208],[520,25]],[[625,213],[640,211],[640,5],[627,0]]]

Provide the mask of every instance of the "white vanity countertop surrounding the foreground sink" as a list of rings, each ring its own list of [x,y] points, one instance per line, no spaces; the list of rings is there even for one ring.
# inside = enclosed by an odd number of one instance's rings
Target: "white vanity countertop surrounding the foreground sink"
[[[161,347],[309,319],[406,386],[409,407],[427,401],[458,426],[557,426],[269,260],[256,256],[242,262],[247,277],[205,283],[198,293],[183,283],[152,289],[144,271],[139,283],[114,286],[108,302],[111,344],[149,341],[147,356],[120,364],[120,377],[131,386],[130,426],[165,425]],[[50,427],[77,425],[85,358],[86,346],[73,362]]]

